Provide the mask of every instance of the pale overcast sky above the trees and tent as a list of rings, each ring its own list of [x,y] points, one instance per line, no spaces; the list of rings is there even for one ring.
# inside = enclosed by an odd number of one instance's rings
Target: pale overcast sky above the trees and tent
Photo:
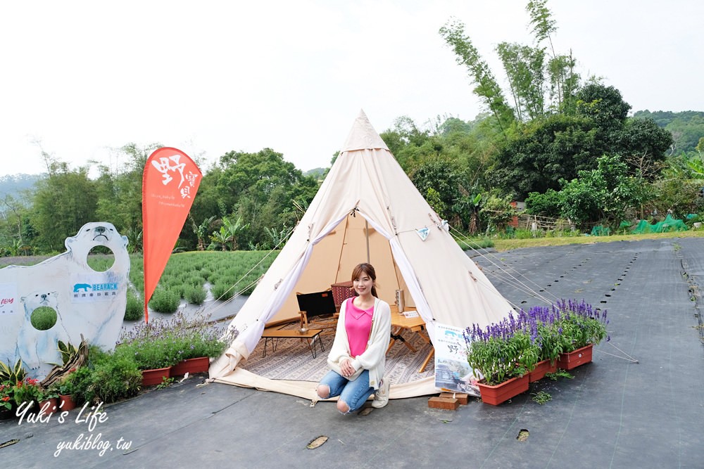
[[[382,132],[408,115],[482,112],[438,34],[466,25],[494,48],[530,44],[526,1],[13,1],[0,8],[0,176],[120,165],[115,148],[161,143],[203,158],[273,148],[327,167],[365,110]],[[548,3],[553,44],[632,111],[704,110],[704,2]]]

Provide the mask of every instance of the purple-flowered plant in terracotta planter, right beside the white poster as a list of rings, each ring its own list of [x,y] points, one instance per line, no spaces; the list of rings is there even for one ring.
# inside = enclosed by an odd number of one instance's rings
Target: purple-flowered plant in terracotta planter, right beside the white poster
[[[482,375],[482,401],[498,405],[528,390],[528,373],[539,361],[536,336],[513,314],[486,328],[474,324],[465,330],[467,362]]]

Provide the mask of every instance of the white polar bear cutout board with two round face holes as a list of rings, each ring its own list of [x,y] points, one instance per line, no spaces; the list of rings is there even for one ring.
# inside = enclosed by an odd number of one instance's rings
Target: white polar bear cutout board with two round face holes
[[[78,345],[83,335],[102,349],[113,349],[125,316],[127,237],[113,224],[96,221],[66,238],[65,245],[66,252],[40,264],[0,269],[0,360],[14,364],[22,359],[32,378],[44,378],[51,364],[61,360],[58,340]],[[104,272],[87,263],[96,246],[115,257]],[[32,326],[38,307],[56,311],[56,323],[48,330]]]

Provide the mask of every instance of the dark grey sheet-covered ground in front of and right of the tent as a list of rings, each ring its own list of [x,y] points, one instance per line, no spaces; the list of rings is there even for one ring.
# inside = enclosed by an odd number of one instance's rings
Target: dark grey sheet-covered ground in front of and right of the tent
[[[204,377],[194,377],[106,406],[102,422],[83,421],[78,409],[63,423],[56,416],[46,423],[1,421],[0,461],[18,468],[704,467],[704,239],[530,248],[474,259],[519,306],[541,304],[530,287],[548,300],[584,299],[607,309],[611,341],[596,347],[593,363],[572,371],[574,379],[541,380],[500,406],[470,399],[456,411],[429,409],[427,397],[417,397],[341,416],[327,402],[311,407],[284,394],[199,385]],[[552,399],[536,403],[539,391]],[[527,438],[519,439],[522,430]],[[327,442],[308,449],[319,436]],[[88,438],[93,444],[83,449],[58,451]]]

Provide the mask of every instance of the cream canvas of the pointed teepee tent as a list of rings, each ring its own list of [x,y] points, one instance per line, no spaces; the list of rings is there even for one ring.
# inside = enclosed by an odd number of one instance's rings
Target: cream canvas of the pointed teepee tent
[[[268,380],[238,364],[256,347],[266,323],[298,319],[296,292],[348,281],[353,267],[367,261],[377,271],[379,297],[394,304],[396,290],[403,290],[406,306],[417,309],[432,342],[435,323],[484,327],[513,311],[360,112],[306,214],[228,326],[237,329],[237,338],[210,365],[210,377],[315,400],[311,383]],[[433,392],[426,379],[392,385],[390,397]]]

